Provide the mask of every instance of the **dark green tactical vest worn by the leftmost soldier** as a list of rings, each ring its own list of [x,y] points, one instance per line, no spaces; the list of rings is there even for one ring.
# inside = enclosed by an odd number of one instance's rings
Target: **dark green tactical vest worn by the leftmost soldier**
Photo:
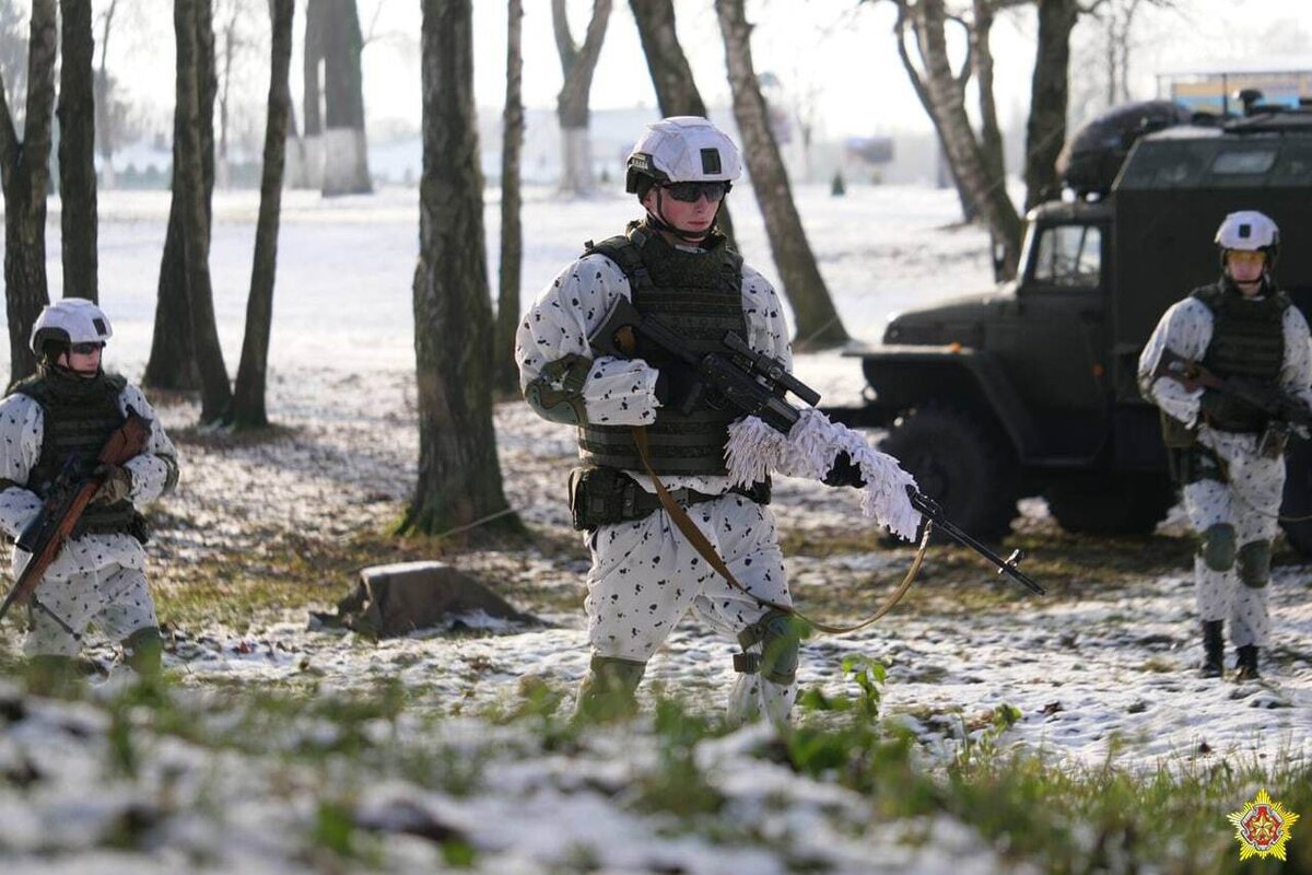
[[[29,489],[45,500],[70,462],[76,478],[88,476],[96,468],[109,436],[126,420],[118,407],[126,386],[122,376],[101,374],[96,379],[81,379],[47,371],[13,387],[13,392],[41,405],[45,420],[41,458],[28,475]],[[136,535],[139,519],[131,501],[91,504],[77,522],[77,534],[130,531]]]

